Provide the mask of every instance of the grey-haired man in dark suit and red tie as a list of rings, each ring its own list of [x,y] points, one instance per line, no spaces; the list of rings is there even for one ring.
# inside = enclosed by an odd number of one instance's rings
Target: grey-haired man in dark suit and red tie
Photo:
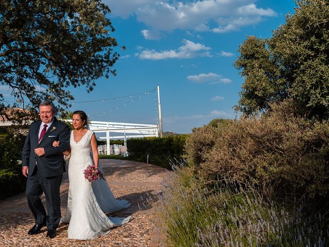
[[[41,120],[32,122],[22,153],[26,197],[35,218],[28,234],[38,234],[47,225],[46,236],[53,238],[61,220],[60,185],[65,171],[62,152],[69,147],[69,127],[56,119],[52,102],[41,102],[39,111]],[[52,146],[54,140],[60,141],[58,147]],[[42,193],[46,197],[47,214],[40,199]]]

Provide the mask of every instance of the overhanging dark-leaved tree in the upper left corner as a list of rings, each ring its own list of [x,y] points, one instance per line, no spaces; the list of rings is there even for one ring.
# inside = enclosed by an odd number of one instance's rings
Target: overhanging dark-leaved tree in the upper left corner
[[[17,101],[9,106],[33,111],[51,100],[63,111],[74,99],[68,86],[89,93],[96,79],[116,75],[110,12],[101,0],[1,1],[0,85]],[[0,94],[1,114],[6,107]]]

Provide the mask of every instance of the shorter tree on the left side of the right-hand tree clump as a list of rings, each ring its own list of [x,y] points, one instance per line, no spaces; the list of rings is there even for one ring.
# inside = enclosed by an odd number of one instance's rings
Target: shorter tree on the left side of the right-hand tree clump
[[[270,103],[288,96],[280,69],[266,49],[267,42],[254,36],[247,37],[240,45],[240,57],[234,63],[236,69],[242,70],[240,74],[245,79],[235,109],[247,115],[267,110]]]

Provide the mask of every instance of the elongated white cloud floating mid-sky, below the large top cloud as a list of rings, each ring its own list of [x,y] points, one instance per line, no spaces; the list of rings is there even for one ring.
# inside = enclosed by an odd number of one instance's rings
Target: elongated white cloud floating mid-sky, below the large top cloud
[[[180,46],[177,50],[163,50],[156,51],[152,50],[143,50],[137,56],[140,59],[151,59],[151,60],[160,60],[168,58],[195,58],[195,57],[211,57],[211,54],[208,50],[210,47],[207,47],[200,43],[194,43],[189,40],[182,41],[184,45]]]

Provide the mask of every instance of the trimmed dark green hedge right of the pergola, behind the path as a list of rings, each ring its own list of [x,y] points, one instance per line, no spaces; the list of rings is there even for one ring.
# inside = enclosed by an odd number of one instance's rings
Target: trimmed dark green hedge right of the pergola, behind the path
[[[167,169],[171,169],[171,161],[179,159],[184,154],[187,135],[168,137],[145,137],[142,139],[128,139],[127,150],[134,161],[147,162]]]

